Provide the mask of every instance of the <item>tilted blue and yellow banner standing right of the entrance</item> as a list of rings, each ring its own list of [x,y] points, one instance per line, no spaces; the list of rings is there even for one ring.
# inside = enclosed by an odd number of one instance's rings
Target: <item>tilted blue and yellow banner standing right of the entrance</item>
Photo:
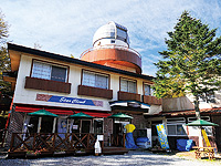
[[[159,139],[161,148],[169,149],[169,144],[168,144],[168,141],[167,141],[167,134],[166,134],[165,125],[158,124],[158,125],[156,125],[156,127],[157,127],[158,139]]]

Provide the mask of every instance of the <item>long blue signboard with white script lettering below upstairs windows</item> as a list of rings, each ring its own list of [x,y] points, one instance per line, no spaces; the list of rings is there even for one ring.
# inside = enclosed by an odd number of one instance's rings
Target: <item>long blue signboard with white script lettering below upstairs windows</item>
[[[36,101],[80,104],[80,105],[90,105],[90,106],[103,106],[103,101],[66,97],[66,96],[59,96],[59,95],[48,95],[48,94],[36,94]]]

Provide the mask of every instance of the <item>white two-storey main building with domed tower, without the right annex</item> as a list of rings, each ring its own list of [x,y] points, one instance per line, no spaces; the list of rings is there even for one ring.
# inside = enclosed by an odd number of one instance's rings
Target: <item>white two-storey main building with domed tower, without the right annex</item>
[[[104,145],[128,123],[150,127],[144,116],[161,111],[161,100],[151,94],[154,77],[141,73],[140,54],[129,48],[127,29],[115,22],[96,31],[93,48],[80,59],[12,43],[8,51],[11,72],[4,73],[4,81],[14,90],[8,143],[14,132],[38,132],[39,117],[28,115],[38,110],[59,115],[55,128],[53,117],[43,117],[41,133],[103,133]],[[93,118],[67,118],[80,112]],[[134,118],[107,118],[115,113]]]

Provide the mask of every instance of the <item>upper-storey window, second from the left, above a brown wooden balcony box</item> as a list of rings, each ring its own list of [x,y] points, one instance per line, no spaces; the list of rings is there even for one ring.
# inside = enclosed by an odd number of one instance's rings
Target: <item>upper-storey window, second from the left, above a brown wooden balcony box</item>
[[[108,89],[108,76],[88,71],[83,71],[83,85]]]

